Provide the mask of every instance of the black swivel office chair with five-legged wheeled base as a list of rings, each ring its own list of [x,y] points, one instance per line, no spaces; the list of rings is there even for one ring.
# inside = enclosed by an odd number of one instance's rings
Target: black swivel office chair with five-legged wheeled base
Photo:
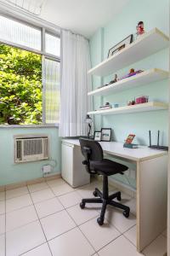
[[[127,171],[128,167],[114,161],[104,159],[103,150],[98,142],[86,138],[80,138],[79,141],[81,144],[82,154],[85,158],[85,160],[82,161],[82,164],[85,165],[86,171],[90,174],[103,176],[103,193],[96,188],[94,190],[94,196],[99,198],[82,199],[80,207],[83,209],[86,203],[102,203],[100,217],[97,219],[99,225],[104,224],[107,205],[122,209],[123,215],[128,218],[130,208],[113,201],[114,198],[116,198],[117,201],[121,201],[121,192],[119,191],[113,195],[109,195],[108,191],[108,176],[116,173],[123,174],[123,172]]]

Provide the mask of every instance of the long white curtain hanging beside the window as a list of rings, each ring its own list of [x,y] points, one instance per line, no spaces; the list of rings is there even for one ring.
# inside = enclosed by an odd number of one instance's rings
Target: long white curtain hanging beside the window
[[[86,114],[90,109],[90,53],[88,40],[69,31],[62,31],[61,103],[59,136],[87,135]]]

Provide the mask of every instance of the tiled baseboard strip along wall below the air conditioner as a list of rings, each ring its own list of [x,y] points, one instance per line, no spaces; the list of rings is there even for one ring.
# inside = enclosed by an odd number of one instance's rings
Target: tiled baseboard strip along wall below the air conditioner
[[[56,178],[59,178],[59,177],[61,177],[60,173],[59,174],[52,174],[48,177],[38,177],[38,178],[35,178],[35,179],[28,180],[26,182],[12,183],[12,184],[8,184],[8,185],[5,185],[5,186],[0,186],[0,192],[3,192],[5,190],[9,190],[9,189],[18,189],[18,188],[24,187],[26,185],[32,185],[32,184],[36,184],[36,183],[46,182],[46,181],[53,180],[53,179],[56,179]]]

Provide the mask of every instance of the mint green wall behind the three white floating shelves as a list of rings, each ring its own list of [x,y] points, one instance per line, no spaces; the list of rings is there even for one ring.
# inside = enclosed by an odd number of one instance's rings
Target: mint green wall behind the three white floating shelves
[[[135,34],[136,25],[139,20],[144,21],[145,31],[148,32],[152,28],[157,27],[162,32],[169,34],[169,0],[130,0],[127,6],[122,9],[119,15],[106,25],[103,31],[103,38],[99,37],[99,31],[90,39],[90,49],[92,66],[98,64],[100,59],[105,60],[109,49],[115,44],[122,41],[129,34]],[[100,51],[101,42],[103,51]],[[154,42],[153,42],[154,44]],[[98,54],[98,55],[97,55]],[[99,57],[100,56],[100,57]],[[133,63],[130,67],[125,67],[118,71],[118,76],[128,73],[130,68],[149,69],[153,67],[169,70],[169,52],[163,49],[155,55],[150,55],[144,60]],[[104,84],[111,81],[113,76],[101,79]],[[99,78],[98,78],[99,79]],[[94,76],[93,88],[99,86],[99,80]],[[105,97],[94,96],[94,109],[98,109],[100,103],[105,102],[119,103],[120,106],[127,105],[127,101],[132,100],[135,96],[146,95],[150,97],[150,101],[168,102],[168,81],[163,80],[154,84],[144,84],[139,88],[124,90],[114,95]],[[156,131],[161,131],[161,144],[167,145],[168,131],[168,113],[167,111],[156,111],[148,113],[127,113],[120,115],[107,115],[99,119],[95,118],[95,126],[97,130],[103,127],[111,127],[113,129],[112,139],[123,142],[129,133],[136,134],[134,143],[147,145],[148,131],[152,131],[152,142],[156,143]],[[135,166],[131,166],[135,170]],[[123,183],[127,183],[125,178],[116,177]],[[129,181],[128,181],[129,183]],[[134,186],[134,181],[130,183]]]

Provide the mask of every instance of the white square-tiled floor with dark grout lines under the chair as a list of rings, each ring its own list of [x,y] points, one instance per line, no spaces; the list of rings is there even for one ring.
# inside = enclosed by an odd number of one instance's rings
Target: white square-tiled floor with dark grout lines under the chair
[[[0,256],[162,256],[167,231],[143,253],[136,251],[135,200],[122,193],[131,215],[107,208],[105,224],[96,218],[100,206],[79,207],[82,197],[93,197],[94,182],[72,189],[62,179],[0,193]],[[114,191],[114,188],[110,188]]]

